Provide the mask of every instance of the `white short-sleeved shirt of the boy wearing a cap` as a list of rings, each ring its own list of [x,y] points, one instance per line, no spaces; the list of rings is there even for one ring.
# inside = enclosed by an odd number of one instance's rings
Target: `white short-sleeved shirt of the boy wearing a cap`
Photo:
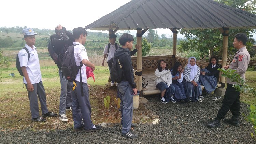
[[[27,44],[25,44],[25,47],[27,47],[30,53],[30,57],[28,60],[27,51],[25,49],[21,49],[18,53],[20,66],[26,67],[31,84],[39,83],[42,81],[42,74],[40,71],[40,64],[39,64],[36,47],[33,46],[33,49],[32,49]],[[23,80],[24,80],[24,83],[27,84],[25,77],[23,77]]]

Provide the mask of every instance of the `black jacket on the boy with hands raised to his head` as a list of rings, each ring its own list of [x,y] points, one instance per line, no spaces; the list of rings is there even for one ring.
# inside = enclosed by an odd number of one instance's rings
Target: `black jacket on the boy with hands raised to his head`
[[[54,51],[56,54],[65,54],[68,47],[73,44],[75,41],[75,38],[71,32],[65,32],[62,29],[59,30],[60,35],[53,34],[50,36],[50,40],[52,41],[52,44],[54,46]]]

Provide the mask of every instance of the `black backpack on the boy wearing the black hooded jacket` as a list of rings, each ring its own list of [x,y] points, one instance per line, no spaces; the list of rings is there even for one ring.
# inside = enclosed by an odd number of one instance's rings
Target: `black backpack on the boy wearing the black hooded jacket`
[[[112,79],[115,82],[120,83],[122,80],[122,76],[123,76],[123,70],[122,70],[122,65],[121,65],[118,57],[114,56],[107,63],[109,65],[109,67],[111,67],[110,75],[111,75]]]

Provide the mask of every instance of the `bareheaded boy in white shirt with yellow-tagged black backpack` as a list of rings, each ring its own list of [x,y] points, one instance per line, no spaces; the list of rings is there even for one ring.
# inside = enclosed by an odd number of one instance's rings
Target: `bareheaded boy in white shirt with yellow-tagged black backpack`
[[[72,86],[71,97],[73,104],[73,121],[74,121],[74,131],[80,131],[85,129],[86,132],[98,131],[102,127],[94,125],[91,121],[91,105],[89,101],[89,88],[87,85],[87,75],[86,75],[86,66],[91,67],[93,71],[95,70],[94,64],[92,64],[87,56],[85,47],[83,46],[86,42],[87,31],[82,28],[74,28],[73,35],[75,38],[74,48],[73,48],[73,57],[76,63],[76,66],[80,66],[82,62],[82,67],[78,71],[75,80],[69,82]],[[69,48],[70,49],[70,48]],[[69,50],[68,50],[69,51]],[[67,53],[66,53],[67,54]],[[65,54],[65,56],[67,56]],[[72,54],[69,54],[72,55]],[[63,65],[65,65],[66,57],[64,57]],[[65,69],[62,69],[63,73],[66,74]],[[66,77],[69,78],[69,77]],[[81,82],[82,80],[82,82]],[[82,88],[82,89],[81,89]]]

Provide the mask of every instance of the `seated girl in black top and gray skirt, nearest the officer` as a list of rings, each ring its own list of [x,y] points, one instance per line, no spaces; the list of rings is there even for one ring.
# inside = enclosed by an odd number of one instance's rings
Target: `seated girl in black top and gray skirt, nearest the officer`
[[[211,93],[217,87],[217,81],[219,80],[219,60],[213,56],[210,58],[208,66],[201,69],[200,83],[204,86],[207,93]]]

